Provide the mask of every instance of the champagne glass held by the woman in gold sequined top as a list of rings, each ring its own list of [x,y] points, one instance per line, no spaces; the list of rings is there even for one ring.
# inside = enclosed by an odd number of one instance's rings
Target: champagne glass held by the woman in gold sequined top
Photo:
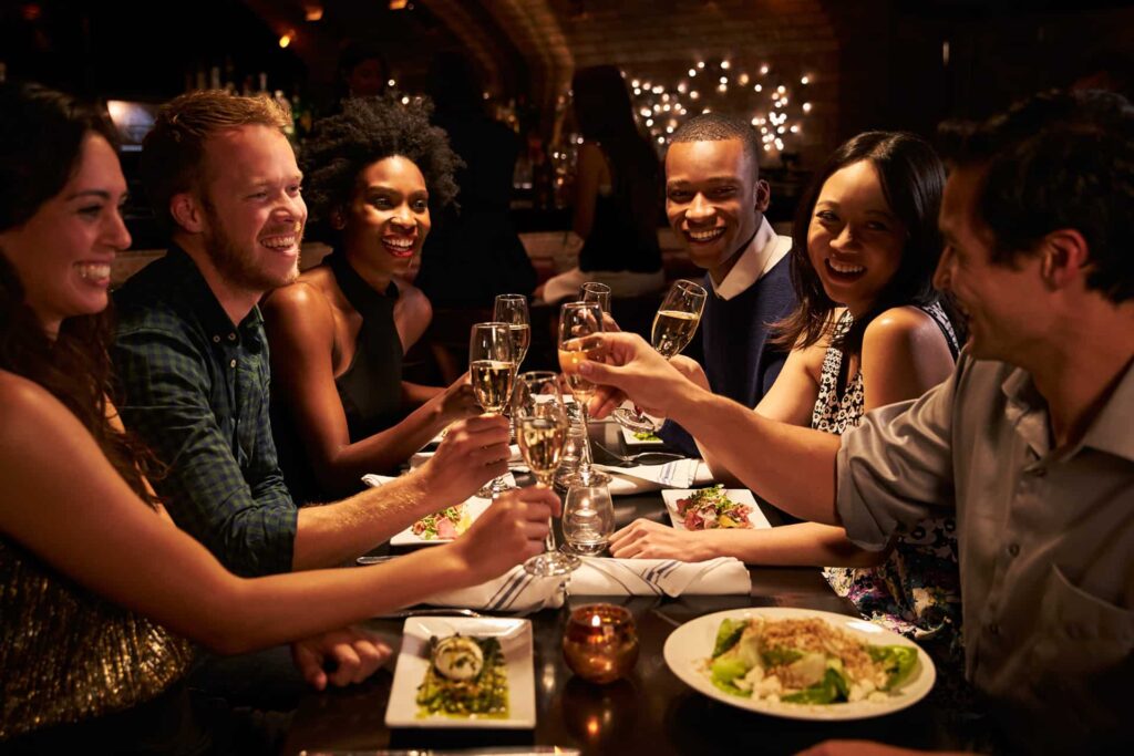
[[[550,486],[567,440],[567,409],[559,391],[559,376],[550,371],[524,373],[516,379],[513,417],[519,453],[535,479]],[[579,564],[574,554],[556,551],[555,528],[548,529],[547,551],[524,562],[532,575],[566,575]]]

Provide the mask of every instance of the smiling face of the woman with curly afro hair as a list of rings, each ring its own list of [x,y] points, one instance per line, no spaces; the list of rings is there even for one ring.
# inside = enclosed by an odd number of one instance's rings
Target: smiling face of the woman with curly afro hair
[[[352,260],[381,277],[405,274],[430,229],[425,177],[400,155],[371,163],[338,222]]]

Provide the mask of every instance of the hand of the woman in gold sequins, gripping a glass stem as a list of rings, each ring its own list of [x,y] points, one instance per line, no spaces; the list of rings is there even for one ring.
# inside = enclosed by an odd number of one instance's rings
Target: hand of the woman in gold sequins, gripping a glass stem
[[[543,552],[549,520],[560,509],[559,496],[545,486],[506,491],[452,547],[477,583],[490,580]]]

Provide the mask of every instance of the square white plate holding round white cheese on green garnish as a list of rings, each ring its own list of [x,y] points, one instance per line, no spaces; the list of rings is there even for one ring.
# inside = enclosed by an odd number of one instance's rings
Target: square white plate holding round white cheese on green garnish
[[[451,635],[500,640],[508,673],[508,717],[456,717],[442,714],[422,715],[417,705],[417,687],[432,663],[429,639]],[[411,617],[403,629],[401,653],[393,670],[390,703],[386,707],[386,725],[390,728],[490,728],[524,730],[535,727],[535,672],[532,665],[531,620],[467,617]]]

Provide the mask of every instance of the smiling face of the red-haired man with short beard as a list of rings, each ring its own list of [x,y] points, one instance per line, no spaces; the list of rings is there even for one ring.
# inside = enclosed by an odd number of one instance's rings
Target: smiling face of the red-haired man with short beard
[[[204,246],[230,286],[264,292],[298,275],[307,206],[287,138],[266,126],[221,131],[205,145]]]

